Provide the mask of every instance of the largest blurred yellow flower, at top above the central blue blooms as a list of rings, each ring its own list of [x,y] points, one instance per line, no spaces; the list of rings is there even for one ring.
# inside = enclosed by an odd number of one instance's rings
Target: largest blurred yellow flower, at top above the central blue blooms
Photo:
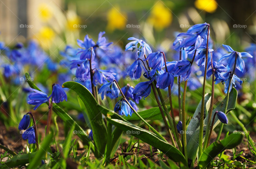
[[[152,8],[147,21],[152,24],[155,29],[162,30],[171,24],[172,19],[171,11],[163,2],[158,1]]]

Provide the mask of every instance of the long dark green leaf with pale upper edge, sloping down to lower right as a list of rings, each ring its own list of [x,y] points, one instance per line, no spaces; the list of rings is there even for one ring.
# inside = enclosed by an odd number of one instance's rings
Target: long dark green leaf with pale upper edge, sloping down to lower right
[[[165,153],[170,159],[175,162],[181,162],[183,164],[187,164],[185,157],[183,154],[175,148],[173,145],[170,145],[163,140],[161,140],[157,135],[151,133],[145,129],[142,129],[134,124],[124,122],[118,119],[110,119],[107,120],[115,125],[116,127],[122,129],[126,133],[139,138],[140,140],[154,146],[155,148],[161,150]]]

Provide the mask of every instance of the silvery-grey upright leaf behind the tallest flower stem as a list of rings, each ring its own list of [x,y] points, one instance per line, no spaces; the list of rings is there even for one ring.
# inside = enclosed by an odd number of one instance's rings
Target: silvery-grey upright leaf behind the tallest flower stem
[[[211,99],[211,95],[209,93],[206,93],[205,94],[205,110],[204,110],[205,113],[208,112],[210,108],[210,99]],[[202,99],[197,105],[197,109],[195,110],[193,118],[190,120],[189,125],[187,127],[187,142],[190,140],[192,134],[196,131],[196,129],[200,125],[201,105],[202,105]]]

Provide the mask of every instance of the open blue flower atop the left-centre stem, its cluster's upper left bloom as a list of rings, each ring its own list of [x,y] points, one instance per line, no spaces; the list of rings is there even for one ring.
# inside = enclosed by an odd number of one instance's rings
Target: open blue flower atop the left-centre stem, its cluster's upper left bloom
[[[82,49],[79,49],[79,51],[77,53],[77,54],[81,53],[81,55],[80,55],[81,60],[83,60],[83,59],[94,60],[95,53],[94,53],[93,48],[91,48],[91,47],[95,46],[95,42],[92,39],[90,39],[88,35],[85,36],[84,41],[81,41],[78,39],[77,44],[82,48]]]

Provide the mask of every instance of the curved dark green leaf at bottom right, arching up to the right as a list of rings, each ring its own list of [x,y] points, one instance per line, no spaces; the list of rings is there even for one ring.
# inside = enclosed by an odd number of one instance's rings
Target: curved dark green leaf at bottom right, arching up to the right
[[[240,133],[232,133],[227,138],[215,141],[209,147],[207,147],[198,161],[199,168],[207,168],[211,164],[211,161],[225,149],[232,149],[239,145],[245,136]]]

